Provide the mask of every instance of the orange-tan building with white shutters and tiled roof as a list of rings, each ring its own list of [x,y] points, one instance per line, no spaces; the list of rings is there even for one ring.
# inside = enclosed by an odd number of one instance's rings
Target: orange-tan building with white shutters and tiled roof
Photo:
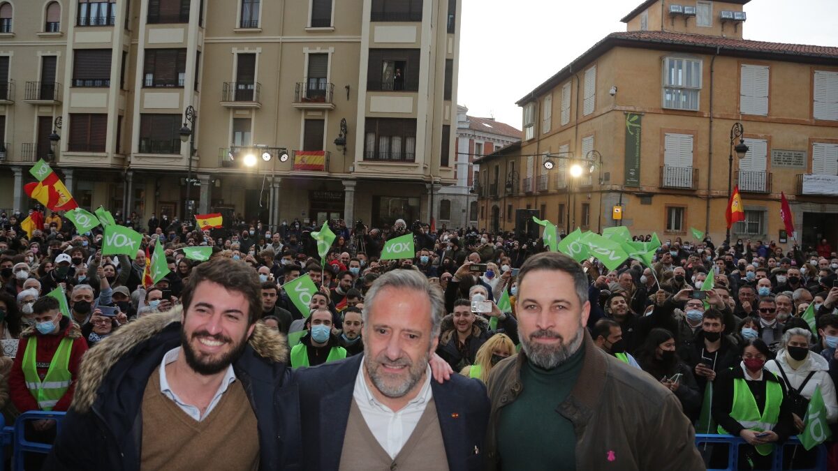
[[[722,241],[730,174],[747,218],[734,240],[792,243],[782,192],[798,241],[835,243],[838,48],[742,39],[760,21],[748,2],[645,1],[627,31],[527,92],[520,153],[478,160],[480,188],[516,183],[479,199],[481,225],[511,230],[525,208],[565,231],[695,227]]]

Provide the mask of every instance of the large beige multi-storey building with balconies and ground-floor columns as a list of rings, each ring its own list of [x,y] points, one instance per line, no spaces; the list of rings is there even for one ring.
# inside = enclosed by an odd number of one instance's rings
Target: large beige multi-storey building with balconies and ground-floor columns
[[[0,208],[34,204],[44,158],[82,207],[143,221],[428,220],[456,181],[459,8],[0,0]]]

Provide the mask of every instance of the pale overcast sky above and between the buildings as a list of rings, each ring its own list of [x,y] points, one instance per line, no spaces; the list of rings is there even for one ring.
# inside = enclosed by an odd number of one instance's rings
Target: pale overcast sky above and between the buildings
[[[458,103],[471,116],[520,129],[515,101],[598,40],[625,31],[620,18],[643,0],[462,2]],[[838,0],[753,0],[745,12],[745,39],[838,46]]]

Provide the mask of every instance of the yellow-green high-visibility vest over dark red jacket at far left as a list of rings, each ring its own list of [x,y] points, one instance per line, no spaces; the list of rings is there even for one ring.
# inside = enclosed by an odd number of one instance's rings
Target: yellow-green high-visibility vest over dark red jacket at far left
[[[70,375],[70,351],[73,349],[73,339],[61,339],[58,349],[55,350],[52,360],[49,362],[49,370],[42,381],[38,375],[38,368],[35,365],[35,357],[38,351],[38,337],[30,337],[26,343],[26,351],[23,352],[23,380],[29,393],[38,401],[42,411],[52,411],[61,396],[70,388],[73,375]]]

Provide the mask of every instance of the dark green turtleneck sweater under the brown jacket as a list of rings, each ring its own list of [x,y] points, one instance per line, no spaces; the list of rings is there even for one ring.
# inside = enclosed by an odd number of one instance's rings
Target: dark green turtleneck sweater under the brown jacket
[[[552,370],[525,362],[520,395],[500,409],[498,451],[501,469],[576,469],[576,432],[558,412],[576,385],[585,348]]]

